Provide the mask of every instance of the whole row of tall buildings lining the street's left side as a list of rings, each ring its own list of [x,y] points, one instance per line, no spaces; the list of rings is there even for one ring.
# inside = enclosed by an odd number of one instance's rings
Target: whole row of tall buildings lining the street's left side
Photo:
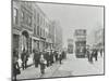
[[[23,50],[52,49],[55,28],[51,21],[35,2],[13,1],[12,6],[12,49],[19,56]]]

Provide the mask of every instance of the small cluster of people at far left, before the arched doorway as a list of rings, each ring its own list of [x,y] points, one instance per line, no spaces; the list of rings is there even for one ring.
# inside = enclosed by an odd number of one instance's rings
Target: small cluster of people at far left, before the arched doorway
[[[12,58],[13,81],[16,81],[16,76],[21,73],[21,67],[23,70],[27,68],[28,57],[29,57],[28,52],[25,49],[23,50],[21,57],[19,56],[19,51],[16,49],[13,50],[13,58]],[[21,66],[20,66],[20,62],[21,62]]]

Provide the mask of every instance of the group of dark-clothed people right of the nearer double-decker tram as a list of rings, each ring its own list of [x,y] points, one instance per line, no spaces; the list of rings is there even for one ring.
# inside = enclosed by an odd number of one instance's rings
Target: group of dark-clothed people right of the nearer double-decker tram
[[[100,53],[100,56],[102,56],[102,50],[87,49],[86,54],[87,54],[88,62],[93,63],[94,62],[93,58],[95,58],[95,60],[98,60],[98,53]]]

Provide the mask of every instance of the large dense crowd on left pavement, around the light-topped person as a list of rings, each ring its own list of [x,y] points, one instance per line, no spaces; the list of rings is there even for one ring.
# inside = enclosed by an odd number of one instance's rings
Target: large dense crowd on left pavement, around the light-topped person
[[[34,63],[37,68],[40,65],[40,73],[45,73],[46,67],[52,66],[55,63],[62,64],[62,59],[66,58],[66,53],[64,51],[55,50],[34,50]]]

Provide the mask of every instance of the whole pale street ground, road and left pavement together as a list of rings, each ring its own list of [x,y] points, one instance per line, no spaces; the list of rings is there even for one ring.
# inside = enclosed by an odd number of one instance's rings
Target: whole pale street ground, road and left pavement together
[[[87,58],[76,58],[74,54],[68,54],[66,59],[62,64],[55,63],[52,66],[46,68],[45,75],[40,75],[40,67],[35,68],[31,66],[22,70],[17,79],[37,79],[37,78],[55,78],[69,76],[89,76],[104,73],[104,57],[98,56],[98,60],[93,64]]]

